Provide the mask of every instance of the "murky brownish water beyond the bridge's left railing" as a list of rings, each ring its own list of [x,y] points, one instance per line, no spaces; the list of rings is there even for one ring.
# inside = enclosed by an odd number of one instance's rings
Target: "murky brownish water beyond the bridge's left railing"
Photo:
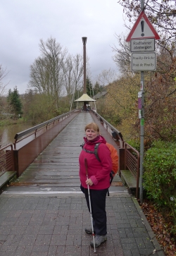
[[[4,147],[9,143],[15,142],[14,137],[16,133],[20,133],[23,130],[26,130],[31,127],[32,127],[32,123],[19,123],[19,124],[13,124],[11,126],[0,127],[0,135],[2,135],[2,138],[0,141],[1,147]]]

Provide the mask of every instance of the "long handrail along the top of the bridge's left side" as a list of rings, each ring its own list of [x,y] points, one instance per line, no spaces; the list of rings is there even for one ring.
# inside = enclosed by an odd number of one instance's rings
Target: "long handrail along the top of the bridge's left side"
[[[73,114],[73,112],[75,112],[75,110],[69,111],[69,112],[67,112],[67,113],[65,113],[65,114],[61,114],[60,116],[56,116],[56,117],[54,117],[54,118],[51,118],[50,120],[45,121],[44,123],[40,123],[40,124],[37,125],[37,126],[33,126],[32,128],[29,128],[29,129],[27,129],[27,130],[23,130],[23,131],[20,132],[20,133],[16,133],[16,135],[15,135],[15,137],[14,137],[15,142],[16,142],[19,138],[22,138],[23,136],[25,136],[25,135],[27,135],[27,134],[29,134],[29,133],[32,133],[33,131],[37,131],[39,128],[42,128],[42,127],[44,127],[45,125],[48,126],[49,123],[52,123],[52,122],[54,122],[54,121],[56,121],[56,120],[58,120],[58,119],[60,119],[60,118],[63,118],[63,117],[68,116],[68,115],[70,115],[70,114]]]

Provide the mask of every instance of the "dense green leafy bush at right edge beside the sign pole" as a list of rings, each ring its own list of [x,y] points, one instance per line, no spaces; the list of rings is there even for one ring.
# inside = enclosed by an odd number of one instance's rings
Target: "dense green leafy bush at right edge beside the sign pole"
[[[144,190],[160,207],[169,207],[176,222],[176,143],[153,142],[144,155]]]

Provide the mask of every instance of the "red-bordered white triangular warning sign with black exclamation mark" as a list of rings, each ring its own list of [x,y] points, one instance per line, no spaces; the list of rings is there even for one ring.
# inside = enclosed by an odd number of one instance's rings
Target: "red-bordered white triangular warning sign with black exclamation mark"
[[[130,34],[127,36],[126,42],[130,42],[131,39],[144,39],[155,38],[160,39],[160,36],[153,28],[149,18],[146,17],[144,11],[139,14],[137,21],[134,23]]]

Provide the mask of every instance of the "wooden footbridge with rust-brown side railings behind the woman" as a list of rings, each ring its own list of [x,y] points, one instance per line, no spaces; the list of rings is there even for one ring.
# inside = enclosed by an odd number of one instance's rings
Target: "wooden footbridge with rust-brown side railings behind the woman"
[[[14,145],[11,150],[6,150],[8,156],[1,157],[1,169],[7,169],[1,178],[1,186],[8,184],[4,194],[81,193],[78,157],[84,137],[84,126],[92,121],[99,125],[101,135],[106,141],[118,150],[118,172],[121,176],[121,171],[127,168],[125,159],[130,162],[130,151],[125,154],[127,145],[120,132],[94,111],[72,111],[15,135]],[[135,168],[131,168],[133,170],[137,169],[139,159],[133,155],[132,157],[135,160]],[[7,183],[15,173],[17,179]],[[132,186],[136,187],[137,180],[133,179],[135,184]],[[115,176],[110,191],[127,193],[119,176]]]

